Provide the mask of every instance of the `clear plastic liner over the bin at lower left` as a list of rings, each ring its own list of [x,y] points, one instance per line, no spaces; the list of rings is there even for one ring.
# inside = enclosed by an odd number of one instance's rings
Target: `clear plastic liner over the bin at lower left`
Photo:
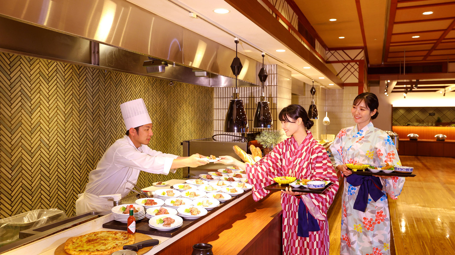
[[[41,226],[66,218],[64,211],[56,208],[27,211],[0,220],[0,246],[19,239],[21,230]]]

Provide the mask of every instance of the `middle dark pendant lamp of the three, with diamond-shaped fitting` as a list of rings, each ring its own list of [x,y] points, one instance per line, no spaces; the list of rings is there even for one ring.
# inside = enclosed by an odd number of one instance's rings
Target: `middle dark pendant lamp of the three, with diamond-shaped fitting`
[[[253,128],[272,128],[272,113],[270,113],[270,108],[268,107],[268,101],[265,100],[264,96],[264,82],[267,80],[268,74],[264,68],[264,57],[265,53],[262,53],[262,68],[259,70],[259,80],[262,82],[262,96],[258,101],[256,106],[256,113],[254,113],[253,118]]]

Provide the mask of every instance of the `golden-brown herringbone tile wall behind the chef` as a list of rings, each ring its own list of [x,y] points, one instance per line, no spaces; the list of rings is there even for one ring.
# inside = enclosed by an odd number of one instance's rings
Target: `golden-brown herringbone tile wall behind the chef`
[[[211,137],[213,89],[0,52],[0,218],[59,208],[125,133],[120,104],[144,98],[153,149],[182,155],[182,140]],[[141,173],[139,186],[181,178]]]

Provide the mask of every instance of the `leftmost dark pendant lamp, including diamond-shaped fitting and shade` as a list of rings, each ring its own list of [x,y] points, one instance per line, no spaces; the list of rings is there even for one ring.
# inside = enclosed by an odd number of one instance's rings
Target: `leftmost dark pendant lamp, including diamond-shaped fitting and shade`
[[[245,108],[243,108],[243,100],[239,99],[237,92],[237,76],[242,70],[242,62],[237,57],[238,38],[234,38],[235,42],[235,58],[231,64],[232,73],[235,75],[235,92],[232,99],[229,101],[226,118],[224,120],[224,132],[231,133],[248,133],[248,118]]]

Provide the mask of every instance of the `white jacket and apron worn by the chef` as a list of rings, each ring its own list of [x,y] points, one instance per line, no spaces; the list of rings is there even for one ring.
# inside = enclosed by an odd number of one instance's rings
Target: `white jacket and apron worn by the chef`
[[[144,144],[136,148],[128,136],[118,139],[101,157],[96,169],[89,173],[86,190],[76,201],[76,214],[111,210],[113,200],[98,196],[119,193],[124,197],[130,192],[126,187],[134,188],[126,181],[137,183],[140,171],[167,175],[177,157],[157,152]]]

